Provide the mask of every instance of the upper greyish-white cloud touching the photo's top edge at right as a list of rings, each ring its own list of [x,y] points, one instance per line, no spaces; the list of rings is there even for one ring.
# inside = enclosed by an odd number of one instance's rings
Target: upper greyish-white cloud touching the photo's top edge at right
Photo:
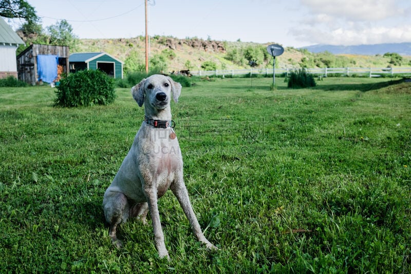
[[[312,12],[351,21],[377,21],[404,15],[396,0],[301,0]]]

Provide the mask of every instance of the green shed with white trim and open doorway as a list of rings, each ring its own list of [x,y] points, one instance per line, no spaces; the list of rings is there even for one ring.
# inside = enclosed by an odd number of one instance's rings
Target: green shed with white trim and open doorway
[[[110,77],[123,78],[123,62],[105,52],[71,53],[68,62],[70,72],[100,69]]]

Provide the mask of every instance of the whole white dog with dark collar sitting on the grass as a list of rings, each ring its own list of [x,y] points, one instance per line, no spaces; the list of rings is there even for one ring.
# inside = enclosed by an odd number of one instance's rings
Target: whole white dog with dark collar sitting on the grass
[[[119,224],[130,216],[139,216],[146,223],[145,217],[150,210],[159,257],[169,259],[157,206],[157,198],[169,188],[177,197],[198,241],[209,249],[217,249],[201,232],[183,181],[183,162],[170,108],[171,97],[177,103],[180,92],[181,85],[163,75],[150,76],[132,88],[138,105],[144,104],[145,118],[103,199],[113,244],[121,246],[116,236]]]

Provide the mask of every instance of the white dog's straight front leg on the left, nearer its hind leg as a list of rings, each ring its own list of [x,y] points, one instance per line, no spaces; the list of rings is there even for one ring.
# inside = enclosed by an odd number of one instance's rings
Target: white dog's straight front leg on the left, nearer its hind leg
[[[150,211],[151,220],[154,229],[154,241],[160,258],[166,257],[170,260],[169,252],[165,248],[164,234],[161,228],[160,213],[157,204],[157,190],[150,188],[145,190],[145,195],[148,203],[148,210]]]

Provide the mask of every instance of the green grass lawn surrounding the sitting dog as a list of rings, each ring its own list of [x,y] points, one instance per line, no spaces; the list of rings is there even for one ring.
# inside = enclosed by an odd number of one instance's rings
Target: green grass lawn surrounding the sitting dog
[[[173,119],[209,252],[171,192],[171,261],[132,220],[111,245],[105,189],[143,108],[53,106],[50,87],[0,89],[0,272],[411,272],[411,83],[215,79],[183,88]]]

